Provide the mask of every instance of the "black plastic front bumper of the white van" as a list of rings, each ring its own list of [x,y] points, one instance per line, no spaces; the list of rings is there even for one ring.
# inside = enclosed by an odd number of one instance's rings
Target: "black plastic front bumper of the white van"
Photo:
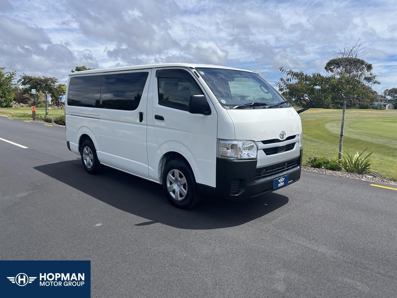
[[[256,164],[256,160],[233,161],[217,158],[216,188],[213,192],[223,199],[242,201],[272,192],[274,179],[278,177],[289,174],[289,183],[285,186],[297,182],[301,178],[302,149],[296,166],[261,180],[255,180]]]

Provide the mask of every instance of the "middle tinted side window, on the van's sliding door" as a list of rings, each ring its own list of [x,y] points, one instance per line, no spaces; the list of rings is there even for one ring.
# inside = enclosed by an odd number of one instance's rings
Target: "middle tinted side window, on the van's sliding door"
[[[133,72],[104,75],[100,107],[113,110],[135,110],[141,101],[148,74],[148,72]]]

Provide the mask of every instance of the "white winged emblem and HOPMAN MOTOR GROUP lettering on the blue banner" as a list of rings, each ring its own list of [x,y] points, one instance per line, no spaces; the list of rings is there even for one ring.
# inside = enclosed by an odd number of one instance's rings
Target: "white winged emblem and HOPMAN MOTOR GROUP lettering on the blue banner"
[[[13,284],[26,286],[37,277],[28,277],[25,273],[19,273],[15,277],[7,277]],[[39,286],[83,286],[84,273],[40,273]]]

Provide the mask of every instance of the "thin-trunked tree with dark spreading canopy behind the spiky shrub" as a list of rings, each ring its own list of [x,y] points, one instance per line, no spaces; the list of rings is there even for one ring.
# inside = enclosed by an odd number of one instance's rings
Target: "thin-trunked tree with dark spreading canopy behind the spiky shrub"
[[[312,75],[304,74],[302,71],[279,70],[287,77],[281,77],[277,85],[281,93],[290,95],[296,89],[296,84],[306,85],[299,91],[308,90],[314,94],[313,102],[321,99],[331,99],[343,103],[341,134],[339,139],[338,158],[342,158],[343,133],[345,127],[345,115],[347,101],[353,102],[357,98],[370,100],[374,98],[372,86],[380,84],[376,75],[372,74],[372,64],[365,62],[359,57],[363,55],[364,42],[358,39],[353,46],[338,48],[333,52],[335,58],[328,61],[325,70],[330,73],[324,76],[319,72]],[[295,85],[294,85],[295,84]],[[310,93],[309,93],[310,94]],[[295,97],[297,94],[294,95]],[[353,104],[350,104],[353,105]]]

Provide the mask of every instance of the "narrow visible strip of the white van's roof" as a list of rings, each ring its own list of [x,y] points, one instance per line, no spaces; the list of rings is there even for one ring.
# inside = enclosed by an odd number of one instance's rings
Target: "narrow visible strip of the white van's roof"
[[[227,66],[220,65],[210,65],[210,64],[191,64],[191,63],[160,63],[160,64],[145,64],[145,65],[135,65],[135,66],[123,66],[123,67],[113,67],[113,68],[98,68],[94,70],[83,70],[81,72],[73,72],[69,75],[79,75],[79,74],[94,74],[98,72],[120,72],[123,70],[138,70],[146,68],[162,68],[162,67],[186,67],[186,68],[223,68],[230,70],[243,70],[239,68],[231,68]],[[243,70],[245,72],[252,72],[251,70]]]

